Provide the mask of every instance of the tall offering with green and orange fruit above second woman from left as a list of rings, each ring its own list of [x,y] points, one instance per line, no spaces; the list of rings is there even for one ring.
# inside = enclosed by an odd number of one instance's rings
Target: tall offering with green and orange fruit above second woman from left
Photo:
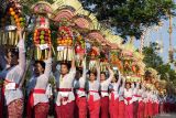
[[[52,43],[48,14],[52,12],[50,3],[40,1],[32,6],[36,14],[33,42],[35,45],[35,60],[46,60],[47,49]]]

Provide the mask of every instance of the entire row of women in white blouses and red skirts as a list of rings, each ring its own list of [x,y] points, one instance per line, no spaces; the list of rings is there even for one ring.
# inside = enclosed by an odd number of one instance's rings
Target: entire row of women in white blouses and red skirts
[[[56,118],[152,118],[158,115],[161,99],[156,89],[146,89],[142,82],[127,82],[125,76],[109,65],[108,73],[100,72],[98,63],[96,71],[88,71],[84,56],[82,67],[76,67],[75,57],[70,64],[54,64],[51,47],[46,61],[33,61],[30,65],[33,68],[28,87],[22,87],[26,68],[25,44],[21,29],[18,34],[18,49],[3,52],[1,47],[1,118],[22,118],[23,111],[28,118],[47,118],[46,88],[51,75],[56,81]],[[24,99],[23,88],[28,92],[28,99]]]

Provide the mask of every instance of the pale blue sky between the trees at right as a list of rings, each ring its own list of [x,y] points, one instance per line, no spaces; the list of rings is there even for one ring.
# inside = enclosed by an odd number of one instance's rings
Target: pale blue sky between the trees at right
[[[176,2],[176,0],[174,0]],[[174,25],[175,24],[175,25]],[[168,49],[169,49],[169,34],[168,34],[169,21],[163,21],[163,26],[156,29],[155,26],[148,30],[148,33],[145,35],[144,45],[147,46],[148,42],[158,42],[163,43],[163,51],[160,52],[160,55],[163,57],[164,62],[168,62]],[[172,34],[172,44],[176,50],[176,18],[173,18],[173,34]],[[135,41],[134,45],[140,47],[140,41]],[[176,60],[176,53],[175,53]]]

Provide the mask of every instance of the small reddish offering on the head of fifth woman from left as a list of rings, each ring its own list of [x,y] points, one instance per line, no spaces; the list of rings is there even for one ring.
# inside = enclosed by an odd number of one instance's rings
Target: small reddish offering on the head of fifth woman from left
[[[88,53],[88,56],[90,57],[89,62],[89,71],[96,71],[97,65],[97,58],[99,57],[99,50],[96,46],[92,46],[90,49],[90,52]]]

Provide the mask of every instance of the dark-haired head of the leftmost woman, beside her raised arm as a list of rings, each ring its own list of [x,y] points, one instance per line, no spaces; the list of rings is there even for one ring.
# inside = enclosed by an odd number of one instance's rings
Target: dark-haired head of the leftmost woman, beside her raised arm
[[[10,65],[18,65],[19,64],[18,55],[13,54],[12,52],[8,52],[7,63]]]

